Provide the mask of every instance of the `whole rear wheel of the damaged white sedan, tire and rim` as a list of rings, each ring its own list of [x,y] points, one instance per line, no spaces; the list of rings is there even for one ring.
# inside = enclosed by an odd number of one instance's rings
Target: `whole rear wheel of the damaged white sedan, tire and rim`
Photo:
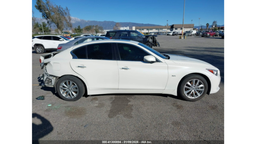
[[[78,101],[85,94],[83,83],[74,76],[61,77],[56,84],[56,89],[60,97],[69,102]]]

